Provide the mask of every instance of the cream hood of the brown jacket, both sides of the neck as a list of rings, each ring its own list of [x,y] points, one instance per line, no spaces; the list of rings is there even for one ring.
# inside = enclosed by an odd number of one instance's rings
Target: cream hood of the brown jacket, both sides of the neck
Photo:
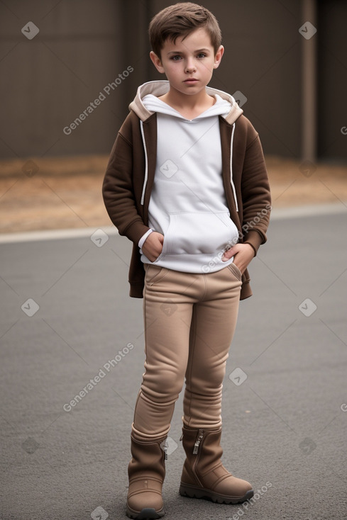
[[[138,87],[138,91],[136,93],[136,96],[134,100],[129,105],[129,110],[133,110],[136,115],[142,120],[145,121],[146,119],[150,118],[151,115],[153,115],[154,111],[148,110],[148,108],[145,107],[143,104],[143,98],[147,96],[148,94],[153,94],[153,96],[163,96],[163,94],[166,94],[169,91],[170,84],[169,81],[148,81],[147,83],[144,83],[143,85],[140,85]],[[228,101],[231,105],[231,109],[226,115],[225,120],[227,123],[232,125],[235,123],[236,119],[240,117],[240,115],[243,113],[242,108],[238,106],[238,103],[236,103],[233,96],[230,94],[227,94],[224,91],[213,89],[210,86],[206,86],[206,93],[210,96],[214,96],[218,94],[218,96],[221,97],[222,100]],[[217,98],[218,100],[218,98]],[[160,100],[159,100],[160,101]],[[147,105],[147,103],[146,103]],[[223,103],[225,106],[225,104]],[[153,108],[155,108],[155,103],[153,103]]]

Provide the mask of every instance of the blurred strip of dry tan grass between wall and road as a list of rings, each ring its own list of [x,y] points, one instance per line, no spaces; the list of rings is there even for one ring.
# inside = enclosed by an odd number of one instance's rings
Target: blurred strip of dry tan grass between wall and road
[[[32,169],[30,162],[38,167]],[[0,232],[111,225],[101,197],[108,156],[0,162]],[[266,157],[273,208],[347,200],[347,166]]]

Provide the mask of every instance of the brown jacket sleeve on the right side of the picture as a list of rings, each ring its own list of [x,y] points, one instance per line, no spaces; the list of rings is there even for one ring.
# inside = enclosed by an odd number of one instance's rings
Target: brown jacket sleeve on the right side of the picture
[[[243,200],[243,242],[250,244],[254,254],[266,242],[270,220],[271,196],[268,172],[258,134],[246,149],[241,191]]]

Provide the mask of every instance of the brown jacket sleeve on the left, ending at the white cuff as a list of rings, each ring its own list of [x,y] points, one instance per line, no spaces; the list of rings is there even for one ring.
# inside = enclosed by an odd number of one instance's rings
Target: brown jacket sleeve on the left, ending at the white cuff
[[[126,120],[112,147],[104,176],[102,196],[107,213],[119,234],[138,244],[149,227],[144,224],[136,203],[133,186],[133,147],[131,139],[126,138],[122,132],[128,125],[130,121]]]

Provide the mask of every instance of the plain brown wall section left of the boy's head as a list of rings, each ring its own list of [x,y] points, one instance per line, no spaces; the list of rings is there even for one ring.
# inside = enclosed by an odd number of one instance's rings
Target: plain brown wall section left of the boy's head
[[[121,1],[13,1],[0,4],[1,157],[106,152],[126,97],[120,84],[70,135],[75,120],[130,64]],[[54,7],[54,4],[57,6]],[[53,8],[53,9],[52,9]],[[52,10],[50,10],[52,9]],[[40,32],[28,40],[21,28]]]

